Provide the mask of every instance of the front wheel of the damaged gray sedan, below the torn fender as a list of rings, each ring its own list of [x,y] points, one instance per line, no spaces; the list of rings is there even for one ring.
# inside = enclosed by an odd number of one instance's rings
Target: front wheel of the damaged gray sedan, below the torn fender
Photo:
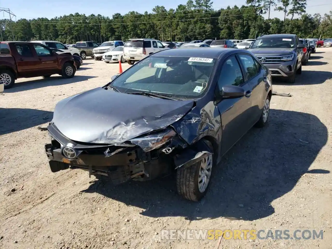
[[[204,140],[213,152],[210,142]],[[206,155],[201,161],[186,167],[178,168],[176,172],[176,186],[178,194],[183,198],[198,202],[207,193],[211,179],[212,166],[215,165],[213,154]]]

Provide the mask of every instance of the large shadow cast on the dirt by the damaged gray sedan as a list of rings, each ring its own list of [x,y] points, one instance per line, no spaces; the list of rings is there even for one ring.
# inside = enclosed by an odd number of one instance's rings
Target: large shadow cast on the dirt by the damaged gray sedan
[[[213,169],[209,190],[200,202],[177,194],[175,176],[119,186],[95,180],[82,192],[143,208],[141,214],[149,217],[256,220],[273,214],[271,203],[290,192],[303,174],[330,173],[308,170],[327,137],[326,126],[316,116],[271,109],[269,124],[252,128]]]

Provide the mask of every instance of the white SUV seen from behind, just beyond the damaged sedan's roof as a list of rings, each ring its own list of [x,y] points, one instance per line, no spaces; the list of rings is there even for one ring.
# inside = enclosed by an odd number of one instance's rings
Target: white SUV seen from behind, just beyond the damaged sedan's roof
[[[123,57],[128,64],[133,65],[135,61],[139,61],[155,52],[170,49],[165,47],[161,41],[154,39],[130,39],[124,43]]]

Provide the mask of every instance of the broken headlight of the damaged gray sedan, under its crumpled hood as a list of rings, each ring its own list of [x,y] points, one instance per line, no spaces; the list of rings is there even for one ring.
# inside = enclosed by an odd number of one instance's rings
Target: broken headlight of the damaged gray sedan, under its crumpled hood
[[[129,141],[141,147],[145,152],[148,152],[150,150],[160,148],[175,135],[176,132],[169,128],[156,133],[150,133],[148,135],[136,137],[130,139]]]

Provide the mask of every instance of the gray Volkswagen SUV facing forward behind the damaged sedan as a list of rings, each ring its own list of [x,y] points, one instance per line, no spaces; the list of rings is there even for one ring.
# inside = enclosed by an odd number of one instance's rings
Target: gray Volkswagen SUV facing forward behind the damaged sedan
[[[295,83],[295,76],[302,72],[304,44],[296,35],[265,35],[256,39],[248,49],[256,55],[272,76],[287,77],[289,83]]]

